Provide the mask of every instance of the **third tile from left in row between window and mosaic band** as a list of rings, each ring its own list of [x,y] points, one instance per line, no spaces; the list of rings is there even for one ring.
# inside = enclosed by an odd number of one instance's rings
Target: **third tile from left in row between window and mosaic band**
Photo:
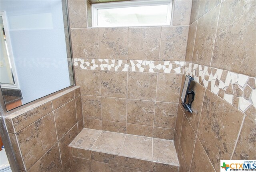
[[[161,27],[129,28],[128,59],[158,60]]]

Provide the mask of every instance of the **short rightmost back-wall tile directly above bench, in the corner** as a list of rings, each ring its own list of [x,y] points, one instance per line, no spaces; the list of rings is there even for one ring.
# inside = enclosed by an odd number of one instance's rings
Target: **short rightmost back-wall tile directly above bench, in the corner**
[[[153,137],[166,139],[166,140],[173,140],[174,132],[175,132],[174,129],[154,127]]]

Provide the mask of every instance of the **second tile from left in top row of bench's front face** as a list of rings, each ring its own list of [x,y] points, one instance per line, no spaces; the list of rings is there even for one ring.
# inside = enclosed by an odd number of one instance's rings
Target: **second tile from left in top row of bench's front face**
[[[92,160],[94,161],[119,165],[118,155],[106,154],[106,153],[96,152],[96,151],[91,151],[91,154],[92,154]]]

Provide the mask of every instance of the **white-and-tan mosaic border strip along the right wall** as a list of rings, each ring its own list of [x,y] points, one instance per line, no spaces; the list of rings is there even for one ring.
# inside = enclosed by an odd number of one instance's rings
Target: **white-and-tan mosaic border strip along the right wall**
[[[223,69],[184,62],[184,75],[194,80],[242,112],[256,108],[256,78]]]

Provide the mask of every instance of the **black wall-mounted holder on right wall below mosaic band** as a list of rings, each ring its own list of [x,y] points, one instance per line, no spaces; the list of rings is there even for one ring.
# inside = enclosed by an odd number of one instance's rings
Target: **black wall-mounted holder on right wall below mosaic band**
[[[190,113],[192,113],[191,105],[192,102],[194,101],[195,98],[195,93],[192,89],[189,88],[191,81],[194,80],[193,77],[186,75],[186,79],[184,82],[183,90],[182,90],[182,95],[181,95],[181,100],[182,100],[182,106],[184,109]],[[188,97],[188,103],[186,103]]]

